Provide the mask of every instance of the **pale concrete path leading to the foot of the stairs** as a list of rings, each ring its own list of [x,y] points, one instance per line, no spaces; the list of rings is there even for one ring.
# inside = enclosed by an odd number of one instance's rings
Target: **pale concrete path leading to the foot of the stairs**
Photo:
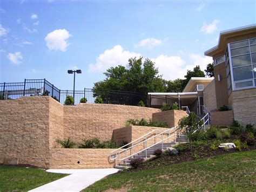
[[[46,172],[71,174],[30,191],[80,191],[119,169],[48,169]]]

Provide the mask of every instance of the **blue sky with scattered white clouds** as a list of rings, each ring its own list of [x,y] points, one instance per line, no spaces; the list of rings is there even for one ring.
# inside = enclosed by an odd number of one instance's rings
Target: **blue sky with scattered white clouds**
[[[110,66],[150,58],[165,79],[211,62],[219,32],[256,23],[256,1],[0,1],[0,82],[46,78],[72,90]]]

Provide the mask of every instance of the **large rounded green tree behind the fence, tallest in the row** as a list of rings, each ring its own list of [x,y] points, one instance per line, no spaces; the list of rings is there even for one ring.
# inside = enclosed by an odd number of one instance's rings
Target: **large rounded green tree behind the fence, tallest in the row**
[[[158,68],[153,61],[143,58],[131,58],[127,67],[118,65],[110,67],[104,73],[106,79],[94,84],[94,96],[104,100],[103,92],[106,90],[129,91],[147,94],[148,92],[165,92],[163,79],[158,74]]]

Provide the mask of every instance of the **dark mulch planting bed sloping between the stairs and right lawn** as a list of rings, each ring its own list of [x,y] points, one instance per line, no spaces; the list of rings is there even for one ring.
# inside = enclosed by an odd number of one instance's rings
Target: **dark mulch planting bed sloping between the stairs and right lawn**
[[[254,150],[256,149],[256,145],[248,146],[247,148],[242,148],[241,152]],[[138,170],[152,169],[161,166],[169,166],[171,164],[177,164],[182,162],[194,161],[198,159],[205,159],[209,157],[214,157],[217,155],[223,155],[228,153],[239,152],[237,148],[224,150],[222,148],[217,148],[212,150],[208,145],[199,145],[196,148],[193,148],[193,152],[191,150],[186,150],[184,152],[179,152],[178,155],[165,155],[162,154],[160,157],[154,157],[148,161],[145,161],[141,166],[137,169],[127,169],[124,172],[137,172]]]

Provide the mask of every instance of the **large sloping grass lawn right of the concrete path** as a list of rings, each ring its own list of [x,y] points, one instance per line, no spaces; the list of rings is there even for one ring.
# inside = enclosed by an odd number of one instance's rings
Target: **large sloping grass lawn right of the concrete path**
[[[84,191],[255,191],[256,150],[107,176]]]

